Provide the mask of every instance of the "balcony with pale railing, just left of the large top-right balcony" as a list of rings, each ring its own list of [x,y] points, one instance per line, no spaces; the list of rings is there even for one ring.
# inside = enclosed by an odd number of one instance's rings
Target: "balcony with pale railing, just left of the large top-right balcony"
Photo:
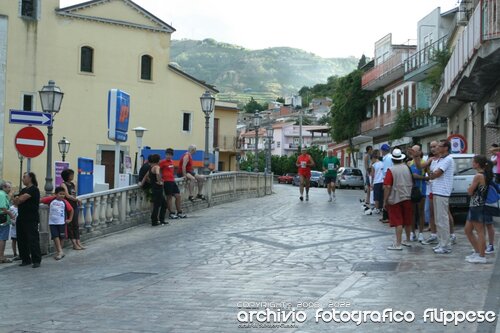
[[[446,49],[448,36],[443,36],[434,43],[418,51],[404,62],[405,81],[422,81],[436,62],[434,55]]]

